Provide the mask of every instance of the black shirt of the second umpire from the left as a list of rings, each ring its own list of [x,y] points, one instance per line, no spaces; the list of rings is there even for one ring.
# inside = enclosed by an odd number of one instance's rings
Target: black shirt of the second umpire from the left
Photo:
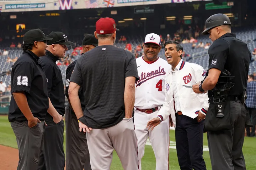
[[[57,112],[63,116],[65,114],[66,98],[62,73],[56,64],[57,60],[59,60],[58,57],[46,50],[46,56],[40,57],[39,63],[43,66],[43,70],[46,73],[49,98]],[[47,114],[46,119],[53,121],[50,114]]]

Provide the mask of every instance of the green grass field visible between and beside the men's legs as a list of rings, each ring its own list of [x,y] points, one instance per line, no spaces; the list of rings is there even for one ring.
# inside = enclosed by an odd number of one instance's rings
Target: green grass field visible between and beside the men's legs
[[[65,133],[64,133],[65,139]],[[170,154],[169,154],[169,165],[170,169],[178,170],[178,159],[175,148],[175,135],[174,131],[170,130]],[[145,146],[145,155],[142,159],[142,169],[143,170],[155,170],[155,156],[152,147],[149,145]],[[10,123],[7,116],[0,116],[0,145],[10,146],[17,148],[16,138],[14,132],[11,129]],[[204,134],[204,150],[207,150],[207,137]],[[64,151],[65,151],[65,140],[64,140]],[[256,138],[245,137],[244,147],[243,147],[246,168],[247,170],[255,170],[255,158],[256,158]],[[209,152],[204,151],[204,160],[206,162],[207,169],[211,169]],[[113,160],[111,164],[111,170],[122,170],[122,165],[117,154],[113,153]]]

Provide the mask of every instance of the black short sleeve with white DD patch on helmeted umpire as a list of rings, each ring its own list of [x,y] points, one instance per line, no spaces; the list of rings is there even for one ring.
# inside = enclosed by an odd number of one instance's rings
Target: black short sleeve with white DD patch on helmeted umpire
[[[217,39],[210,46],[209,51],[209,69],[217,68],[223,71],[228,54],[229,44],[223,39]]]

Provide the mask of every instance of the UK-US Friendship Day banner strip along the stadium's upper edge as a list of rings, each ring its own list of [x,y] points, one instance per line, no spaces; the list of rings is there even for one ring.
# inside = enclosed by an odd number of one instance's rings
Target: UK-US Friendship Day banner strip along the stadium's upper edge
[[[23,0],[1,1],[0,12],[74,10],[212,0]]]

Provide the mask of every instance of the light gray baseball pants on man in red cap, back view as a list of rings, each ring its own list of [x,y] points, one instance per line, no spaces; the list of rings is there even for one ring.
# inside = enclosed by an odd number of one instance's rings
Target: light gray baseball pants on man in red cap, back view
[[[105,129],[92,129],[86,133],[92,170],[110,170],[113,150],[124,170],[139,170],[137,137],[133,118],[123,119]]]

